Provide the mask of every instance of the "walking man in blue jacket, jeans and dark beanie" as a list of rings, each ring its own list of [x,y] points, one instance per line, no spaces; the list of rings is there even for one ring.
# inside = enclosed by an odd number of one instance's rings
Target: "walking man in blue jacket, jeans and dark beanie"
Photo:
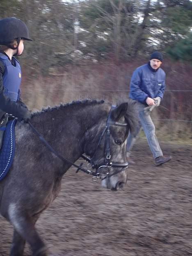
[[[129,97],[137,101],[139,126],[137,135],[142,127],[146,135],[149,147],[155,159],[155,165],[162,165],[171,160],[171,156],[165,157],[155,135],[155,126],[150,117],[154,107],[160,105],[165,90],[165,72],[160,68],[162,64],[162,53],[151,54],[150,61],[139,66],[133,72],[130,81]],[[130,151],[135,143],[136,136],[128,135],[127,158],[129,162]]]

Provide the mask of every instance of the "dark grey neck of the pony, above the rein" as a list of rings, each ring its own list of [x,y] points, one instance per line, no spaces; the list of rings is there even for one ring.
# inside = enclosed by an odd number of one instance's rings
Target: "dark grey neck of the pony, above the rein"
[[[47,142],[64,158],[75,162],[83,153],[85,133],[107,117],[108,104],[71,104],[47,109],[32,123]]]

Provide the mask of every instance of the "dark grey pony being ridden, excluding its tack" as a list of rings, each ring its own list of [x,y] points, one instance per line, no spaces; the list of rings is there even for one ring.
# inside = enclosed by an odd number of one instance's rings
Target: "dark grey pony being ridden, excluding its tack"
[[[110,107],[111,104],[104,101],[77,101],[36,112],[31,123],[53,149],[75,162],[82,153],[93,156]],[[113,110],[112,119],[128,125],[110,128],[112,161],[126,161],[126,137],[128,130],[133,132],[137,125],[136,116],[132,102],[121,103]],[[70,164],[53,155],[29,124],[17,123],[15,135],[14,161],[7,176],[0,181],[0,213],[14,227],[9,255],[22,256],[27,242],[32,256],[47,256],[46,245],[35,223],[57,197],[62,177]],[[98,164],[103,162],[104,144],[103,138],[93,157]],[[116,169],[112,167],[111,173]],[[101,185],[115,189],[118,182],[124,184],[126,179],[127,172],[123,170],[104,179]]]

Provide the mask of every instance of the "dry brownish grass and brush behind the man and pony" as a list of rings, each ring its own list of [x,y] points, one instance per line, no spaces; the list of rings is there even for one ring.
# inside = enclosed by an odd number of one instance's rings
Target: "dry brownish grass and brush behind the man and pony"
[[[88,63],[86,66],[68,66],[63,71],[52,70],[49,77],[24,77],[22,99],[31,110],[40,110],[48,105],[71,102],[82,98],[99,98],[117,103],[128,98],[129,82],[134,69],[145,61],[116,66],[111,62]],[[167,92],[162,107],[153,113],[157,134],[171,141],[192,140],[192,122],[170,121],[181,119],[192,121],[192,92],[170,92],[170,89],[191,89],[187,83],[189,66],[165,62]],[[187,87],[188,86],[188,87]]]

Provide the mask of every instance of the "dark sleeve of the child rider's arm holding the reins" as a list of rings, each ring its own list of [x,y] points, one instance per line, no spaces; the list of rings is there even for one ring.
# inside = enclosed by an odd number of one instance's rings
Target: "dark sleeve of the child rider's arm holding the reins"
[[[22,120],[28,110],[23,107],[19,102],[11,101],[10,98],[3,94],[2,75],[4,73],[4,70],[4,65],[0,61],[0,110],[8,114],[12,114],[14,117],[18,117],[19,120]]]

